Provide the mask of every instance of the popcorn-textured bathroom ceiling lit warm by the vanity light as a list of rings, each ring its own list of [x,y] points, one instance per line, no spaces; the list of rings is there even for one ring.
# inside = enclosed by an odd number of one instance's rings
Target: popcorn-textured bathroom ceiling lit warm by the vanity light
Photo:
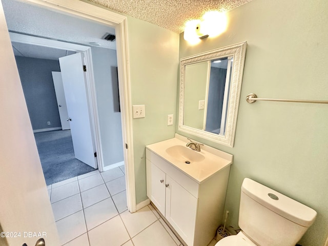
[[[187,20],[210,10],[229,11],[252,0],[89,0],[132,17],[181,33]]]

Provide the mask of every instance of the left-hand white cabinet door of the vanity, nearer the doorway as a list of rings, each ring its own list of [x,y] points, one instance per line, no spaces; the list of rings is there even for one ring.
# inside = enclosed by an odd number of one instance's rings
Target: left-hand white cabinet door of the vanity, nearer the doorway
[[[147,196],[165,216],[165,173],[146,160]]]

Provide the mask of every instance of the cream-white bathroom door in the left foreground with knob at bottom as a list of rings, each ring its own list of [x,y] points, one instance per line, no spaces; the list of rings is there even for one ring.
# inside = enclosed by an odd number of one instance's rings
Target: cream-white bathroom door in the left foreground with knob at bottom
[[[1,2],[0,37],[0,244],[60,245]]]

